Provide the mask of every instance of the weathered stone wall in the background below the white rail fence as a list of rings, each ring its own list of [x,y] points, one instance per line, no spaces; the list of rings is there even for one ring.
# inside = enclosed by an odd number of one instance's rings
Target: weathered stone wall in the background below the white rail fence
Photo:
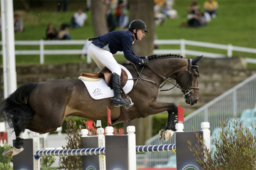
[[[246,69],[245,59],[202,58],[199,65],[199,102],[194,107],[186,105],[183,93],[178,88],[171,91],[159,92],[158,102],[173,102],[185,108],[190,113],[238,83],[256,73],[255,69]],[[99,71],[96,64],[55,64],[17,66],[17,86],[28,82],[41,82],[53,79],[77,79],[81,72],[96,73]],[[3,99],[3,70],[1,68],[1,99]],[[163,89],[171,88],[165,85]]]

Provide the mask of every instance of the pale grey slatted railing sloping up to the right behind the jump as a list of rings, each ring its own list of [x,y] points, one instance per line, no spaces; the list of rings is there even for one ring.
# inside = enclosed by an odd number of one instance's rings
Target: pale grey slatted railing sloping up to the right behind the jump
[[[229,91],[221,94],[211,102],[207,103],[203,107],[194,111],[186,116],[184,123],[184,131],[200,130],[200,122],[209,122],[210,130],[213,131],[215,127],[219,127],[219,121],[227,118],[233,118],[233,113],[236,112],[237,117],[241,116],[241,112],[245,109],[253,109],[256,104],[256,74],[239,83]],[[169,139],[166,144],[175,143],[175,135]],[[145,142],[146,145],[164,144],[163,141],[158,141],[158,134],[148,139]],[[157,164],[167,164],[170,161],[173,153],[145,153],[141,158],[147,160],[143,162],[143,159],[137,159],[137,164],[145,167],[154,167]]]

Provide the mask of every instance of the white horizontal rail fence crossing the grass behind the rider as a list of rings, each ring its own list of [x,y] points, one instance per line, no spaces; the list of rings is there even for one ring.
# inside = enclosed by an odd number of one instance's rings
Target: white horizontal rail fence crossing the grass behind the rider
[[[45,45],[86,45],[89,46],[90,41],[87,40],[38,40],[38,41],[15,41],[15,45],[39,45],[39,50],[15,50],[15,55],[40,55],[40,64],[44,64],[44,55],[66,55],[66,54],[82,54],[86,53],[85,50],[74,50],[74,49],[65,49],[65,50],[45,50]],[[199,56],[204,55],[204,57],[210,58],[220,58],[220,57],[232,57],[233,51],[245,52],[245,53],[253,53],[256,54],[256,48],[246,48],[233,46],[231,44],[223,45],[223,44],[215,44],[209,42],[200,42],[200,41],[191,41],[191,40],[154,40],[155,45],[180,45],[180,49],[155,49],[153,51],[154,54],[180,54],[183,57],[186,55]],[[2,42],[0,42],[2,45]],[[194,51],[187,50],[186,45],[198,46],[198,47],[206,47],[206,48],[215,48],[227,50],[227,54],[218,54],[218,53],[209,53],[204,51]],[[2,53],[2,51],[1,51]],[[122,52],[117,52],[116,54],[123,54]],[[91,59],[89,55],[87,55],[87,63],[90,63]],[[255,58],[246,58],[246,62],[256,64]]]

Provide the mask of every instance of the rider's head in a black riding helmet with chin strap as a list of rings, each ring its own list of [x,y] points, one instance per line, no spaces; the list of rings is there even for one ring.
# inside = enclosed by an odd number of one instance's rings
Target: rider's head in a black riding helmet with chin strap
[[[135,35],[136,40],[141,40],[147,31],[147,27],[142,20],[133,20],[129,25],[129,30]]]

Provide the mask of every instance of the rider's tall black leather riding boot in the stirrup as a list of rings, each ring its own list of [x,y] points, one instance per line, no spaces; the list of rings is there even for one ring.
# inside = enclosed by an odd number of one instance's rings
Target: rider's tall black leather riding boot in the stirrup
[[[122,99],[122,96],[121,96],[121,77],[118,74],[113,73],[111,83],[112,83],[112,88],[113,88],[113,91],[114,91],[114,99],[113,99],[113,102],[112,102],[113,106],[119,107],[119,106],[131,105],[130,102],[126,102],[124,99]]]

